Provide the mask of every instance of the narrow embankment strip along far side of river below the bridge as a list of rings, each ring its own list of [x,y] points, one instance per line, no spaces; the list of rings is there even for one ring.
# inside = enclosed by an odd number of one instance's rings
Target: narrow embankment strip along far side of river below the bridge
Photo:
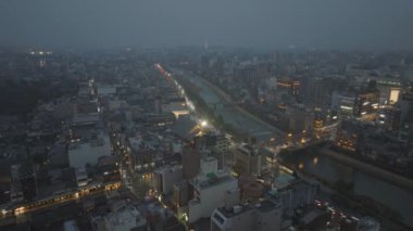
[[[397,187],[400,187],[402,189],[409,190],[410,192],[413,192],[413,180],[402,177],[400,175],[390,172],[388,170],[378,168],[374,165],[363,163],[359,159],[352,158],[350,156],[347,156],[346,154],[338,153],[336,151],[333,151],[326,146],[322,147],[320,150],[320,153],[323,155],[326,155],[328,157],[331,157],[334,159],[337,159],[338,162],[348,165],[350,167],[354,167],[360,171],[363,171],[367,175],[373,175],[375,177],[380,178],[381,180],[385,180],[391,184],[395,184]]]

